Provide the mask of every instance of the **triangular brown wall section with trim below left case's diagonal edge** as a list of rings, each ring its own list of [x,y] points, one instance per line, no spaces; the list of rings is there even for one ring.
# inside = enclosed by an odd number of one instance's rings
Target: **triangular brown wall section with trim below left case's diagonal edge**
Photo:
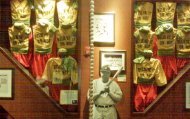
[[[13,92],[11,100],[0,100],[3,108],[15,119],[20,118],[59,118],[78,119],[79,112],[66,112],[57,102],[48,96],[35,79],[16,59],[9,50],[0,47],[0,68],[14,69]],[[24,113],[23,113],[24,111]],[[1,115],[0,115],[1,119]],[[12,118],[8,118],[12,119]]]

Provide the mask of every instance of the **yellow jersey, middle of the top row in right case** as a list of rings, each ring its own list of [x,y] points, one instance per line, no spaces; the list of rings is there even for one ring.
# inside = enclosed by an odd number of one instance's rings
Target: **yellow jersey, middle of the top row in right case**
[[[157,26],[163,23],[173,23],[176,3],[156,2]]]

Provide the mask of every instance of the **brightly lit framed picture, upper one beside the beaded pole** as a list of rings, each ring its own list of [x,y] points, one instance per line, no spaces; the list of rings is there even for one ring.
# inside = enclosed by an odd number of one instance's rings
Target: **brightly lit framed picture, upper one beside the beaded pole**
[[[114,44],[114,13],[95,13],[93,24],[94,43]]]

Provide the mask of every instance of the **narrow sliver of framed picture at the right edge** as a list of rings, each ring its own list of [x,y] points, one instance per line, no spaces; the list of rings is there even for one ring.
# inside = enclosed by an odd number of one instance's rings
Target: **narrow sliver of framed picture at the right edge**
[[[185,108],[190,109],[190,82],[185,83]]]

